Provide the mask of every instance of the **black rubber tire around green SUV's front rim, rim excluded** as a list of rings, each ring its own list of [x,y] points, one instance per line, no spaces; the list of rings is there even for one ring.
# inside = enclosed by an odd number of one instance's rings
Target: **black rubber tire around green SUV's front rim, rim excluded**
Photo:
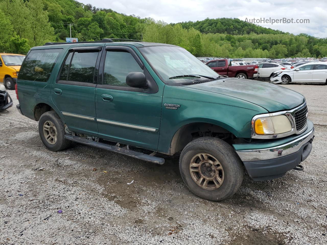
[[[224,180],[219,188],[207,190],[193,180],[189,166],[192,158],[199,153],[214,156],[223,167]],[[180,156],[180,172],[184,183],[194,194],[211,201],[222,201],[234,195],[244,175],[242,162],[232,146],[213,137],[201,137],[185,146]]]

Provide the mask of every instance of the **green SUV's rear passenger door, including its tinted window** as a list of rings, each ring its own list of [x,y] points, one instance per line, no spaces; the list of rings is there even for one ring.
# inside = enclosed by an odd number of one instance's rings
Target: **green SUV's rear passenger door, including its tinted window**
[[[100,49],[101,46],[71,49],[51,87],[52,100],[69,130],[95,137],[95,67]]]

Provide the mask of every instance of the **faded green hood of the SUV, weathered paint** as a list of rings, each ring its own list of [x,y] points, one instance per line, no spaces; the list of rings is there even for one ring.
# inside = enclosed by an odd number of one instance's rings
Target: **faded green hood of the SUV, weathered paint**
[[[305,101],[302,94],[293,90],[249,79],[225,78],[185,87],[242,99],[261,106],[269,112],[292,109]]]

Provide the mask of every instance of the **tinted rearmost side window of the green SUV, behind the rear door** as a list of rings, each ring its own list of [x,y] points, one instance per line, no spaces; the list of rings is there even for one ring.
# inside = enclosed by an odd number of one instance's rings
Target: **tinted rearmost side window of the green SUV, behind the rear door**
[[[19,79],[47,82],[62,49],[31,50],[19,72]]]

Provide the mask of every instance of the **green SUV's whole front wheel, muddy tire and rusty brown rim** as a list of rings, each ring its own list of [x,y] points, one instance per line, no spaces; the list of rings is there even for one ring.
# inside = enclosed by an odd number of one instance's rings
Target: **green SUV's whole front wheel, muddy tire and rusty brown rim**
[[[185,146],[180,156],[180,171],[194,194],[212,201],[234,195],[244,173],[232,146],[213,137],[198,138]]]

